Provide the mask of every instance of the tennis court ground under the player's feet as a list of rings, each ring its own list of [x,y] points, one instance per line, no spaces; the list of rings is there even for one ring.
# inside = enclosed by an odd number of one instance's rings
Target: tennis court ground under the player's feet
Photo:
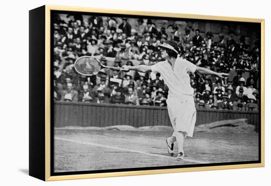
[[[171,130],[55,129],[55,172],[258,160],[259,134],[195,132],[185,159],[167,153]],[[177,155],[177,147],[174,149]]]

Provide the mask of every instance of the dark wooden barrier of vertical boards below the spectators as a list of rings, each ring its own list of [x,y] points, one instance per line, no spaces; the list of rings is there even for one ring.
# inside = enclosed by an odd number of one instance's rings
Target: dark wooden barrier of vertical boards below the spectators
[[[54,124],[56,127],[104,127],[111,125],[131,125],[135,127],[154,125],[171,126],[167,107],[60,101],[56,101],[54,106]],[[240,118],[248,119],[248,124],[253,124],[258,129],[259,113],[253,111],[198,109],[196,125]]]

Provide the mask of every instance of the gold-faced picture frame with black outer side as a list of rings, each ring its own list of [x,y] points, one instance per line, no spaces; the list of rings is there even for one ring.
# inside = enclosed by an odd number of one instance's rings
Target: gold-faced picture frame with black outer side
[[[105,172],[105,173],[90,173],[90,174],[73,174],[73,175],[59,175],[52,176],[51,174],[51,135],[52,135],[52,74],[51,74],[51,12],[52,11],[66,11],[66,12],[92,12],[104,14],[118,14],[118,15],[133,15],[133,16],[156,16],[164,18],[182,18],[182,19],[197,19],[197,20],[216,20],[216,21],[233,21],[233,22],[249,22],[261,24],[261,108],[260,108],[260,162],[249,164],[234,164],[234,165],[218,165],[218,166],[198,166],[198,167],[184,167],[184,168],[168,168],[168,169],[152,169],[152,170],[132,170],[121,172]],[[38,18],[38,16],[40,16]],[[41,20],[41,21],[40,21]],[[34,33],[34,31],[39,31]],[[264,61],[265,61],[265,20],[253,18],[237,18],[237,17],[221,17],[209,15],[193,15],[181,13],[165,13],[165,12],[145,12],[145,11],[127,11],[127,10],[113,10],[103,8],[86,8],[86,7],[70,7],[70,6],[54,6],[44,5],[30,11],[30,175],[44,181],[57,181],[57,180],[71,180],[71,179],[86,179],[86,178],[102,178],[102,177],[118,177],[118,176],[132,176],[132,175],[147,175],[147,174],[162,174],[162,173],[177,173],[177,172],[192,172],[192,171],[206,171],[206,170],[221,170],[221,169],[238,169],[238,168],[252,168],[264,167],[265,165],[265,129],[264,129],[264,100],[265,100],[265,80],[264,80]],[[42,32],[42,33],[41,33]],[[43,35],[44,34],[44,35]],[[41,38],[44,36],[44,38]],[[44,45],[42,50],[35,47]],[[44,49],[44,50],[43,50]],[[38,53],[38,56],[35,54]],[[42,60],[39,64],[34,64],[36,60]],[[37,69],[44,74],[37,74]],[[44,75],[44,84],[40,85],[44,97],[41,100],[42,105],[36,105],[34,98],[40,98],[32,89],[34,76]],[[39,76],[38,76],[39,77]],[[33,82],[32,82],[33,81]],[[44,106],[44,108],[43,108]],[[43,109],[36,109],[42,107]],[[35,116],[34,116],[35,115]],[[39,116],[42,116],[39,118]],[[39,126],[36,126],[39,125]],[[39,147],[37,147],[39,145]]]

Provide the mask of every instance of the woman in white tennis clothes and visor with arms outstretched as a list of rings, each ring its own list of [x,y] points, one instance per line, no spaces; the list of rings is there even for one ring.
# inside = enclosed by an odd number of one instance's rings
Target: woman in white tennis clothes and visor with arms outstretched
[[[173,127],[173,134],[167,138],[169,155],[173,156],[174,142],[177,141],[177,160],[184,158],[184,140],[186,136],[193,137],[196,123],[196,108],[194,102],[194,89],[190,85],[189,73],[196,71],[201,74],[210,74],[223,78],[226,73],[217,73],[212,70],[196,66],[195,64],[178,56],[177,44],[174,41],[166,41],[158,45],[162,51],[162,58],[165,61],[154,65],[136,65],[122,68],[125,70],[135,70],[139,72],[160,73],[165,84],[169,87],[167,99],[169,119]]]

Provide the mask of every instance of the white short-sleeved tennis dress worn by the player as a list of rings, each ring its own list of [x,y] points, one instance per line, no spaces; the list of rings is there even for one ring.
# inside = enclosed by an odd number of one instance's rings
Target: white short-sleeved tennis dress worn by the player
[[[193,137],[196,123],[194,89],[190,85],[189,72],[194,73],[196,68],[195,64],[179,57],[175,61],[174,69],[167,60],[151,65],[152,72],[160,73],[169,87],[167,104],[174,132],[186,132],[189,137]]]

